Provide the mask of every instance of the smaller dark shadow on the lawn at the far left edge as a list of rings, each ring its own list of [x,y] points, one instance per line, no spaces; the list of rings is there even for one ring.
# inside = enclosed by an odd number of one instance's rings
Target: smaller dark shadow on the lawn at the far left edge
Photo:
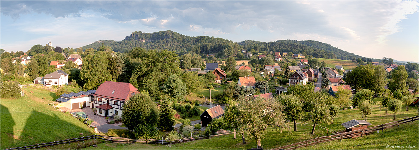
[[[10,148],[10,145],[14,143],[15,135],[13,132],[13,127],[16,125],[16,123],[13,120],[12,115],[10,114],[10,111],[7,107],[1,105],[0,110],[1,110],[0,145],[1,145],[1,149],[4,150],[6,148]]]

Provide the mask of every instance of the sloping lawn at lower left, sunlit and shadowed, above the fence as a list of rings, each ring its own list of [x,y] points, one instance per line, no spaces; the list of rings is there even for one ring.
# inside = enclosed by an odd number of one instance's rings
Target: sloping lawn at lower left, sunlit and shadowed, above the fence
[[[48,105],[55,93],[34,87],[23,90],[24,97],[1,99],[1,149],[94,134],[93,129],[78,119]]]

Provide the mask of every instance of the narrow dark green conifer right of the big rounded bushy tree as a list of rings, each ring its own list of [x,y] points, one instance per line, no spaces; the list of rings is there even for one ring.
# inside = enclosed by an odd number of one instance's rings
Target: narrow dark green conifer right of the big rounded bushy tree
[[[160,119],[158,121],[158,128],[161,130],[171,131],[175,122],[176,111],[170,106],[170,101],[165,100],[160,104]]]

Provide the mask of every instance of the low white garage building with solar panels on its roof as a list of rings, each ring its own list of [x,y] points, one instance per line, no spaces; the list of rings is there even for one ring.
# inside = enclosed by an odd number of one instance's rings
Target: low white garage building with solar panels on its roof
[[[96,91],[80,91],[78,93],[64,93],[60,95],[55,101],[59,101],[62,106],[67,109],[80,109],[81,107],[91,107],[91,102],[93,101],[93,95]]]

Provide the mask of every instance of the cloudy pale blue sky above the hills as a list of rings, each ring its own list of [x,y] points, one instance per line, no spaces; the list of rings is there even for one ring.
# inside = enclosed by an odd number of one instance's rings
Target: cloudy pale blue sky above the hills
[[[0,48],[78,48],[134,31],[234,42],[315,40],[363,57],[419,62],[419,1],[0,1]]]

